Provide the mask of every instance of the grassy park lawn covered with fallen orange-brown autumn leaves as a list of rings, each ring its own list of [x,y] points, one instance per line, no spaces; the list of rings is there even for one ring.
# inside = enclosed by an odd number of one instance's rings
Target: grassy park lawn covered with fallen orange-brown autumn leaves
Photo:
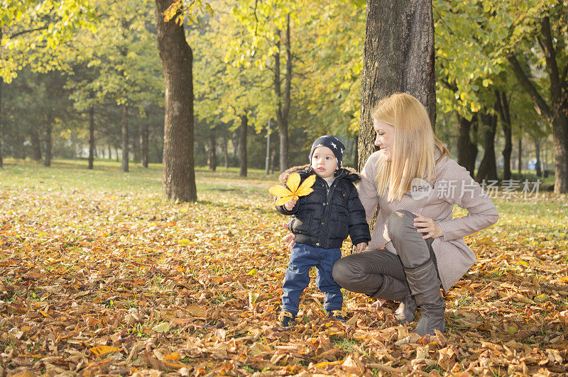
[[[354,293],[346,324],[329,322],[313,280],[282,331],[276,174],[197,169],[199,201],[171,203],[158,165],[85,165],[0,170],[0,376],[567,373],[566,196],[494,201],[499,222],[466,237],[478,259],[445,296],[445,334],[418,339],[394,303]]]

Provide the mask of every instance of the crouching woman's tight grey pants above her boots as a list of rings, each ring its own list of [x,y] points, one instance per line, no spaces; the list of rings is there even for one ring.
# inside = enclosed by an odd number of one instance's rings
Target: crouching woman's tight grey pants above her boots
[[[383,285],[383,275],[406,281],[404,268],[413,269],[434,259],[432,238],[422,240],[423,233],[414,226],[416,216],[397,210],[388,219],[388,235],[398,255],[387,249],[351,254],[335,262],[333,278],[351,292],[373,296]]]

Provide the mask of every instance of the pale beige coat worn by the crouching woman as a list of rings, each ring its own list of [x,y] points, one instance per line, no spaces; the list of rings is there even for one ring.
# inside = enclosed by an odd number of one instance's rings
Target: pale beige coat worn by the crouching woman
[[[357,186],[368,222],[373,218],[376,206],[379,206],[368,249],[386,247],[389,252],[396,253],[387,230],[388,217],[395,210],[410,210],[432,218],[442,227],[443,236],[434,240],[432,249],[442,286],[444,291],[448,291],[475,261],[475,253],[465,244],[464,236],[495,224],[499,217],[497,209],[469,172],[447,157],[436,165],[435,183],[433,187],[430,186],[430,193],[405,193],[400,201],[388,203],[386,195],[379,197],[377,194],[376,164],[380,155],[381,152],[375,152],[368,158]],[[437,151],[436,158],[439,155]],[[454,218],[454,204],[466,208],[469,214]]]

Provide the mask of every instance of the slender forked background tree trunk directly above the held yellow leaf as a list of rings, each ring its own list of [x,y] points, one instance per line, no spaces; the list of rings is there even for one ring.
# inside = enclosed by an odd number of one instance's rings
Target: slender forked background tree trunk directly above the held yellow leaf
[[[290,86],[292,84],[292,49],[290,47],[290,14],[286,17],[286,73],[284,95],[280,88],[280,30],[274,53],[274,91],[278,106],[276,107],[276,125],[280,138],[280,171],[288,169],[288,114],[290,113]]]

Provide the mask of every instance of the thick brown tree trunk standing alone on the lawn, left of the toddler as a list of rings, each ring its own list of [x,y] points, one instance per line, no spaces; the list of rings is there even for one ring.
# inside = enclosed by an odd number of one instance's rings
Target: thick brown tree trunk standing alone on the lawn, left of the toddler
[[[173,0],[155,0],[158,51],[165,77],[163,192],[173,201],[197,201],[193,161],[192,50],[175,17],[164,22]]]

